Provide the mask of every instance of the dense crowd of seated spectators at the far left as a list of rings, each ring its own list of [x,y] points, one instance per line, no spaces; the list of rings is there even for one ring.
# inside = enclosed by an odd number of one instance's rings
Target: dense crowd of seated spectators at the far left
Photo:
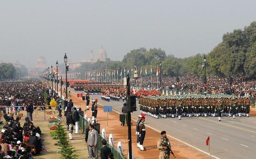
[[[42,132],[34,126],[32,114],[35,106],[45,105],[44,89],[39,80],[0,82],[0,109],[5,119],[0,138],[0,159],[32,159],[32,155],[41,154]],[[20,123],[23,114],[18,114],[19,110],[27,112],[24,123]]]

